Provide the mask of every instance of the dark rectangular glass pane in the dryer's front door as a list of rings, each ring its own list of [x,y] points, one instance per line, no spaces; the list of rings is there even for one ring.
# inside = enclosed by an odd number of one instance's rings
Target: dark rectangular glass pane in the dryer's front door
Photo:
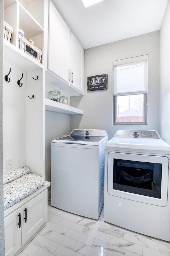
[[[161,198],[162,164],[114,159],[113,189]]]

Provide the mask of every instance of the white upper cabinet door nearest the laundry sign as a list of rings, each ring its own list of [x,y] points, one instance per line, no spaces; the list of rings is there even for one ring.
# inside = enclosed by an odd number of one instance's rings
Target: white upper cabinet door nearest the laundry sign
[[[83,92],[84,49],[71,33],[71,84]]]

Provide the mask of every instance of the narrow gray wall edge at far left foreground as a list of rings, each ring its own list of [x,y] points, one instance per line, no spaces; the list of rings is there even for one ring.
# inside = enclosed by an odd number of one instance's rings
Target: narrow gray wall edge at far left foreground
[[[3,213],[3,155],[2,155],[2,73],[3,73],[3,1],[0,1],[0,255],[5,255]]]

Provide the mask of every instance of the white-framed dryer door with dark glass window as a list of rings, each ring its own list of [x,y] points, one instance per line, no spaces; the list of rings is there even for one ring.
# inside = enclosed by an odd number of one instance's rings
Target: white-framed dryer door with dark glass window
[[[168,166],[167,157],[109,152],[108,193],[166,206]]]

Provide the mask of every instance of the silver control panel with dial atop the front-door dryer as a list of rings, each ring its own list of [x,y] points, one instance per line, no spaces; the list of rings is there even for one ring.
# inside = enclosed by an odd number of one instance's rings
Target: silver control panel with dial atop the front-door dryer
[[[118,130],[114,137],[133,137],[133,138],[154,138],[160,139],[157,131],[151,130]]]

